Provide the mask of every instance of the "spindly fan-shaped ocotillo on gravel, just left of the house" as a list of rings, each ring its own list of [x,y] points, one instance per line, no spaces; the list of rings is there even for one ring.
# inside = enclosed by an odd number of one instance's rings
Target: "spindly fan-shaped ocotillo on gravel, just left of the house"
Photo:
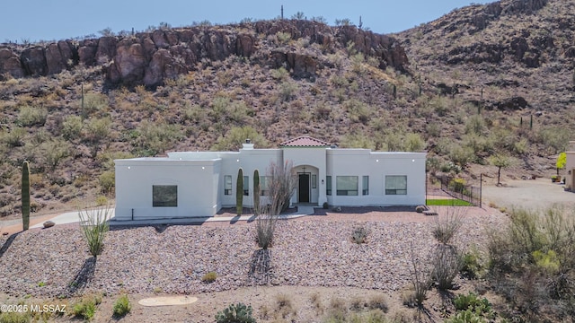
[[[111,218],[112,209],[100,206],[93,210],[80,210],[80,230],[82,231],[90,254],[95,258],[102,253],[104,237],[110,230],[108,220]]]

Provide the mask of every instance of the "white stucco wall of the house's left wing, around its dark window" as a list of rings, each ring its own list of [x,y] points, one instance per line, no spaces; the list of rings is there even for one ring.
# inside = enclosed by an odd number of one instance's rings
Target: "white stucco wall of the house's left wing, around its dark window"
[[[184,161],[168,158],[116,160],[116,220],[213,216],[221,160]],[[154,185],[177,185],[177,207],[153,207]]]

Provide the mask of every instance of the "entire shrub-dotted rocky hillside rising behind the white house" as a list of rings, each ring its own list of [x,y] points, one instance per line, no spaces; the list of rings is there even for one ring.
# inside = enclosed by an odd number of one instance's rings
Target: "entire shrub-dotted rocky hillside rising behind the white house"
[[[275,146],[429,151],[429,171],[548,176],[573,133],[575,1],[501,1],[397,35],[311,21],[0,46],[0,215],[105,203],[113,159]]]

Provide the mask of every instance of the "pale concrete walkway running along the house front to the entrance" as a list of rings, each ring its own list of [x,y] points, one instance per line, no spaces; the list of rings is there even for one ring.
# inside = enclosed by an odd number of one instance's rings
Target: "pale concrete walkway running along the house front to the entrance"
[[[217,216],[217,217],[194,217],[194,218],[179,218],[179,219],[157,219],[157,220],[134,220],[134,221],[117,221],[115,219],[114,210],[111,209],[110,225],[145,225],[145,224],[200,224],[208,222],[228,222],[234,223],[237,221],[253,221],[255,216],[242,215],[242,216]],[[314,214],[314,206],[298,205],[297,211],[293,214],[281,214],[280,219],[295,219],[305,215]],[[68,212],[65,214],[57,215],[49,219],[56,224],[79,223],[80,215],[78,212]],[[31,228],[42,228],[42,223],[32,225]]]

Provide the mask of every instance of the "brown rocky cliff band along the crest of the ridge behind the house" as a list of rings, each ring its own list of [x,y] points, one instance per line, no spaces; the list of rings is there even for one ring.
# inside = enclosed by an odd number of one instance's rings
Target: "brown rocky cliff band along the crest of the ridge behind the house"
[[[354,48],[378,60],[377,66],[404,70],[407,57],[397,41],[385,35],[361,31],[353,26],[338,29],[320,22],[276,21],[242,23],[226,27],[165,29],[136,33],[131,37],[102,37],[79,42],[62,40],[45,46],[0,48],[0,74],[12,77],[58,74],[77,65],[102,66],[112,84],[148,87],[197,70],[202,61],[223,61],[236,56],[272,68],[285,65],[295,77],[315,76],[318,53],[299,48],[269,48],[271,38],[281,32],[286,41],[305,39],[323,50]],[[260,50],[262,49],[262,50]],[[270,50],[271,49],[271,50]]]

